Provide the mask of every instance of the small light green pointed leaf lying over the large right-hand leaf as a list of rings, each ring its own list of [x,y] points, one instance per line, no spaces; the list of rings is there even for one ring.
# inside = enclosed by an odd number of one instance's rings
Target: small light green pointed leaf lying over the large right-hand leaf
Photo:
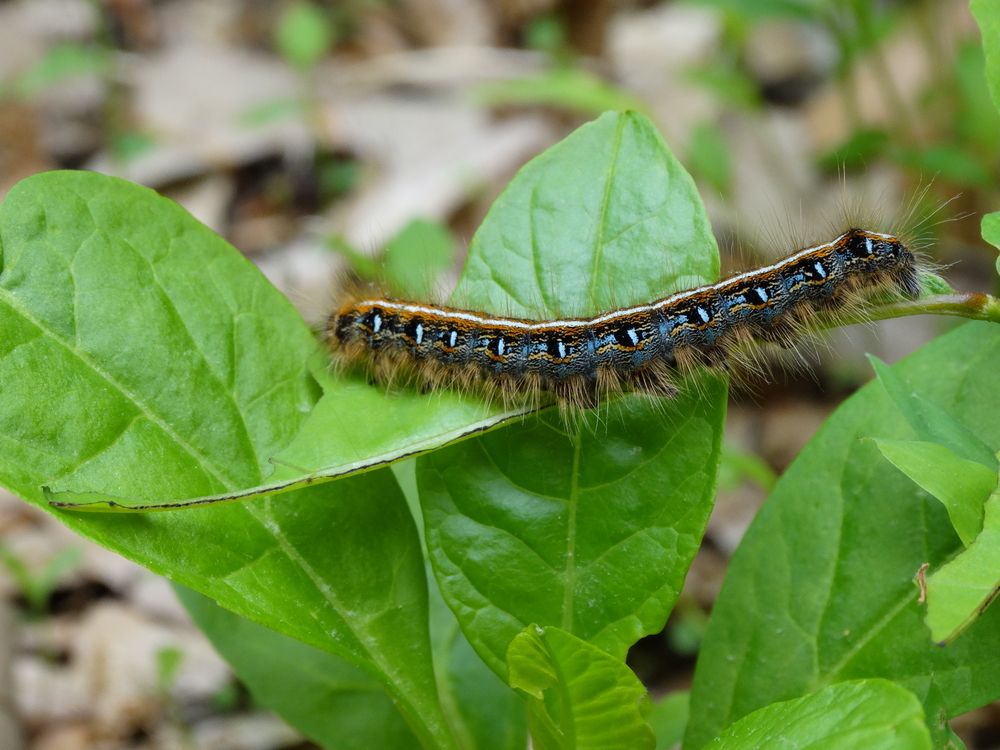
[[[893,466],[944,503],[962,544],[972,544],[983,529],[983,504],[996,487],[997,475],[937,443],[872,440]]]

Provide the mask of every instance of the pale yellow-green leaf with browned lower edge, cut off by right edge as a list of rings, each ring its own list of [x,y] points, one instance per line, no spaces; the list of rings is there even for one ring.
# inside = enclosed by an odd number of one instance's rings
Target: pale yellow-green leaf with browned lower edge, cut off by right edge
[[[961,635],[1000,592],[1000,491],[986,501],[982,533],[954,560],[927,577],[927,616],[931,637],[940,644]]]

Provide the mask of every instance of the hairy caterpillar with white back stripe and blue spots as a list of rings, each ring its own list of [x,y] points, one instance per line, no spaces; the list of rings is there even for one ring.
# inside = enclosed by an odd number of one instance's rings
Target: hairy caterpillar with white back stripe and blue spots
[[[754,339],[790,345],[811,319],[873,294],[920,294],[916,257],[890,234],[850,229],[773,265],[591,318],[525,320],[367,297],[335,310],[335,360],[376,380],[400,372],[425,386],[479,389],[504,400],[551,391],[563,408],[592,408],[633,391],[672,398],[678,374],[726,369]]]

